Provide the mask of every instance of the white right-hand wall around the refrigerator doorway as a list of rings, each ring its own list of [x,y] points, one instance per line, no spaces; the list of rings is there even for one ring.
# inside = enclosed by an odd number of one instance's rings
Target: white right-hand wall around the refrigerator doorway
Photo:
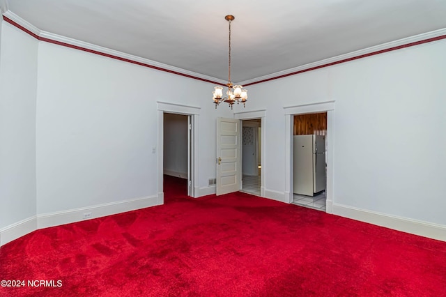
[[[283,107],[336,100],[333,203],[446,226],[445,52],[440,40],[249,86],[268,115],[266,190],[289,190]]]

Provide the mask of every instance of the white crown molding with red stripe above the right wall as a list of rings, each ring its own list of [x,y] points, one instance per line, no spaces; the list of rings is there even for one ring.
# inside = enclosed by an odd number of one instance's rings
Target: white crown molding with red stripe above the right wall
[[[356,59],[362,59],[367,56],[374,56],[375,54],[382,54],[383,52],[399,50],[403,47],[410,47],[413,45],[419,45],[422,43],[428,43],[440,39],[446,39],[446,28],[418,34],[415,36],[410,36],[407,38],[402,38],[399,40],[394,40],[389,43],[383,43],[381,45],[375,45],[373,47],[367,47],[362,50],[357,50],[355,52],[350,52],[348,54],[341,54],[339,56],[334,56],[332,58],[316,61],[314,63],[308,63],[295,68],[289,68],[287,70],[282,70],[277,73],[271,73],[269,75],[264,75],[253,79],[247,79],[243,82],[238,82],[238,84],[241,84],[243,86],[249,86],[251,84],[259,84],[261,82],[266,82],[272,79],[278,79],[286,76],[296,75],[310,70],[324,68],[327,66],[344,63],[347,61],[353,61]]]

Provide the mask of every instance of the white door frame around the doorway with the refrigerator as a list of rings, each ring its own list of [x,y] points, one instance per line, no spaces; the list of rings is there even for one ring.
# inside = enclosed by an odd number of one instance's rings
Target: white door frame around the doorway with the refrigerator
[[[334,100],[284,107],[285,112],[285,198],[293,202],[293,125],[298,114],[327,112],[327,204],[326,213],[333,213],[333,140],[334,140]]]

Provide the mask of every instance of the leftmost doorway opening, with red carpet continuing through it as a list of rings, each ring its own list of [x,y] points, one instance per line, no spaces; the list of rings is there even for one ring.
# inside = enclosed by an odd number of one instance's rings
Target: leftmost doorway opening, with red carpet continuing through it
[[[192,116],[163,114],[164,197],[192,195]]]

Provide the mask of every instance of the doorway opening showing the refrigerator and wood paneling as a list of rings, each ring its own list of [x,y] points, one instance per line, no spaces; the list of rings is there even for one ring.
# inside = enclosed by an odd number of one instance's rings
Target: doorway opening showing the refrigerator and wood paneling
[[[293,204],[326,211],[327,112],[293,116]]]

